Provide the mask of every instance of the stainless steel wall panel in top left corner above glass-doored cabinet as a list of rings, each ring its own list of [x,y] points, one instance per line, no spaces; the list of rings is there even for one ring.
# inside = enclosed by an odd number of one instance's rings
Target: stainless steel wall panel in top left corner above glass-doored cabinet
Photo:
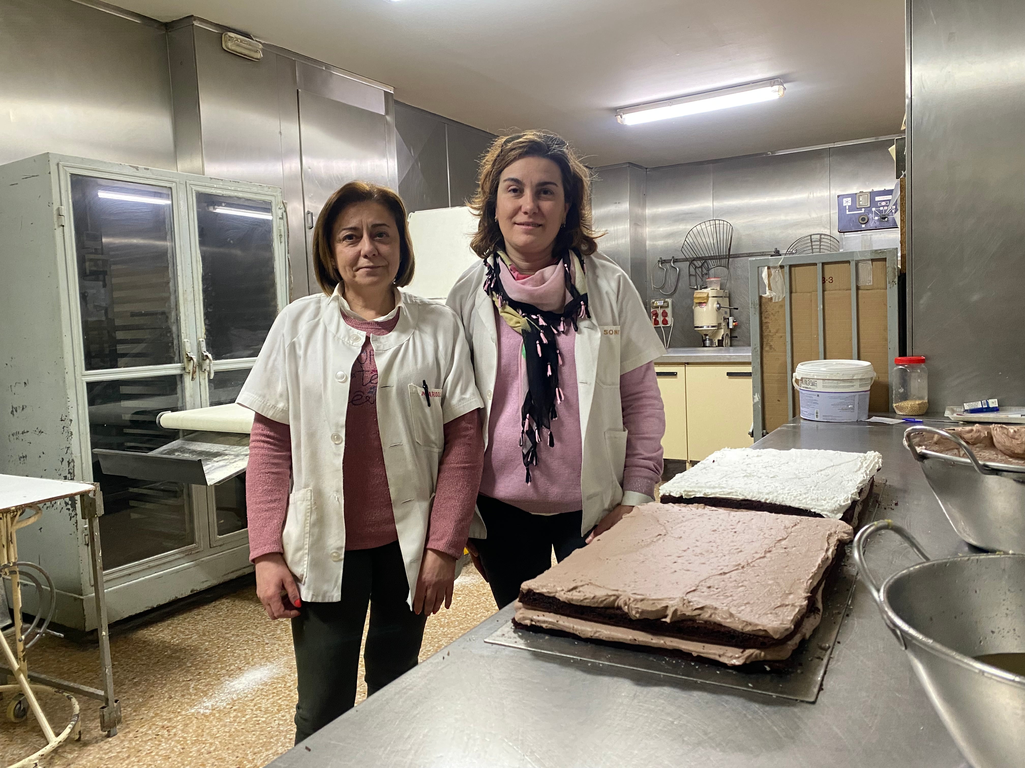
[[[68,0],[0,2],[0,163],[175,167],[165,33]]]

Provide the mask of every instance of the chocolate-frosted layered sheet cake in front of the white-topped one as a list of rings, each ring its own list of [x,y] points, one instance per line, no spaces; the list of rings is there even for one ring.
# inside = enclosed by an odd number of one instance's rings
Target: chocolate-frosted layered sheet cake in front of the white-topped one
[[[731,666],[779,660],[818,626],[852,538],[840,520],[645,504],[525,582],[515,622]]]

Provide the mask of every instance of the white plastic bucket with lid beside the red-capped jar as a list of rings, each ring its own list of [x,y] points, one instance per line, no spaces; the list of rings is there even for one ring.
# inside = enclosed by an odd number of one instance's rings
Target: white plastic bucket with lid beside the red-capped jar
[[[798,362],[793,386],[801,397],[801,418],[809,421],[863,421],[875,369],[865,360]]]

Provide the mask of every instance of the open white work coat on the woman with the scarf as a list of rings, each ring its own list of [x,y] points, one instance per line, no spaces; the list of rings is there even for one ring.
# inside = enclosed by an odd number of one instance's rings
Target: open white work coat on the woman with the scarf
[[[619,377],[665,353],[648,310],[629,276],[602,253],[583,257],[587,271],[590,316],[577,323],[574,355],[583,442],[580,492],[583,498],[581,535],[623,502],[626,430],[619,396]],[[477,388],[484,396],[485,424],[498,369],[495,305],[484,292],[485,266],[469,267],[453,286],[448,305],[462,319],[474,355]],[[565,384],[563,386],[566,386]],[[487,442],[488,430],[484,430]],[[640,494],[636,496],[641,497]],[[638,503],[626,499],[626,503]],[[487,536],[476,515],[470,538]]]

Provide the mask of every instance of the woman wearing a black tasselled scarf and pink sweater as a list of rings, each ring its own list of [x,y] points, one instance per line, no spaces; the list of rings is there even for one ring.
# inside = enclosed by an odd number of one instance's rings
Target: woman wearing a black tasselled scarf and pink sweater
[[[499,607],[653,500],[664,347],[627,274],[598,252],[590,176],[561,137],[495,139],[471,207],[481,263],[448,297],[484,396],[480,517],[467,545]]]

